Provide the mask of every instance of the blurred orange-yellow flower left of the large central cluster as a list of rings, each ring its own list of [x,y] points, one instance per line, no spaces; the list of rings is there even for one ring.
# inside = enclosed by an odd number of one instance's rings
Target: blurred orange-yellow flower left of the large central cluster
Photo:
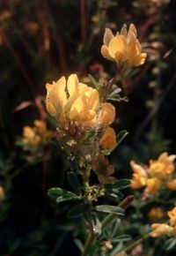
[[[38,146],[47,143],[52,137],[52,132],[48,131],[47,126],[40,120],[34,120],[34,126],[23,128],[23,142],[26,145]]]

